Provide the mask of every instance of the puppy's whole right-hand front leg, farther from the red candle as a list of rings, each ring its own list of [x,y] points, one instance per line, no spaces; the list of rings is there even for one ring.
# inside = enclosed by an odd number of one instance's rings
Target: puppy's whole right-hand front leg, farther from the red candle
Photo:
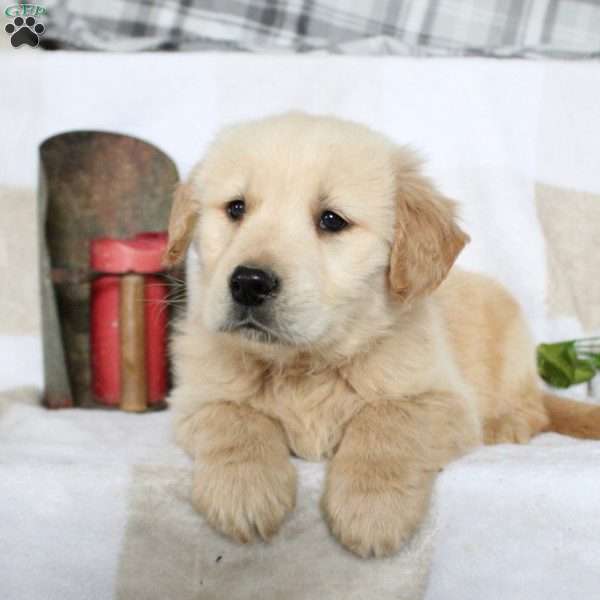
[[[421,523],[440,469],[479,441],[449,395],[366,406],[330,463],[322,506],[332,533],[360,556],[393,554]]]

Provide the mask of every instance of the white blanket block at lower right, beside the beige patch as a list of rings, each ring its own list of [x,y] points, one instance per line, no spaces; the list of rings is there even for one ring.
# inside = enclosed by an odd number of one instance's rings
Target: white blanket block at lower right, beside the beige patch
[[[481,448],[438,485],[427,600],[568,600],[600,590],[600,444]]]

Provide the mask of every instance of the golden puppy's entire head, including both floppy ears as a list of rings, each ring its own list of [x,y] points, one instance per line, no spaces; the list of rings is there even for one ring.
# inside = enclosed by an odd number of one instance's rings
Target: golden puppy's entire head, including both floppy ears
[[[391,304],[437,286],[466,240],[406,151],[301,114],[217,138],[176,199],[172,259],[190,236],[210,331],[307,350],[384,331]]]

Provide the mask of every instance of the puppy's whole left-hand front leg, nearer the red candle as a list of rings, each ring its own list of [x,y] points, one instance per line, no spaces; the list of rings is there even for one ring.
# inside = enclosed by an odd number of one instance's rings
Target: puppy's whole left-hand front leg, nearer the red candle
[[[211,525],[244,543],[279,529],[295,504],[296,472],[277,423],[215,402],[182,419],[177,438],[194,457],[192,499]]]

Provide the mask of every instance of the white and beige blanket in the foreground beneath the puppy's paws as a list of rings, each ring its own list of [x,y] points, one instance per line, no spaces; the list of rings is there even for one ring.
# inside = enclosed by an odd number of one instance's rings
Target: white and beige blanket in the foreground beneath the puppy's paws
[[[281,589],[294,600],[413,600],[426,584],[432,549],[427,600],[597,597],[600,444],[547,434],[528,446],[487,447],[465,457],[440,476],[430,522],[416,543],[384,561],[356,559],[330,539],[318,512],[324,465],[295,464],[300,486],[292,518],[271,545],[239,546],[190,514],[190,461],[172,442],[169,413],[48,412],[35,406],[32,392],[5,393],[0,396],[2,597],[159,600],[168,597],[160,578],[150,591],[143,582],[127,582],[125,589],[141,588],[142,596],[123,593],[123,573],[148,575],[140,564],[158,552],[167,571],[182,571],[181,563],[189,563],[185,577],[197,585],[204,580],[207,598],[253,598],[236,595],[241,588],[235,581],[241,580],[244,590],[260,591],[266,600],[279,598]],[[158,497],[146,502],[164,502],[167,508],[138,514],[140,500],[131,498],[140,494],[140,468],[159,473],[146,484]],[[177,505],[170,479],[182,472],[175,496],[183,501]],[[156,531],[136,531],[140,521]],[[183,558],[177,547],[172,554],[163,552],[169,545],[161,536],[170,531],[180,531],[176,544]],[[158,540],[140,552],[145,535]],[[132,548],[139,556],[132,556]],[[229,591],[210,595],[211,574],[202,559],[208,555],[212,563],[223,554],[225,580],[218,589]],[[284,559],[285,567],[279,563]],[[182,583],[180,598],[188,598],[188,586],[189,581]]]

